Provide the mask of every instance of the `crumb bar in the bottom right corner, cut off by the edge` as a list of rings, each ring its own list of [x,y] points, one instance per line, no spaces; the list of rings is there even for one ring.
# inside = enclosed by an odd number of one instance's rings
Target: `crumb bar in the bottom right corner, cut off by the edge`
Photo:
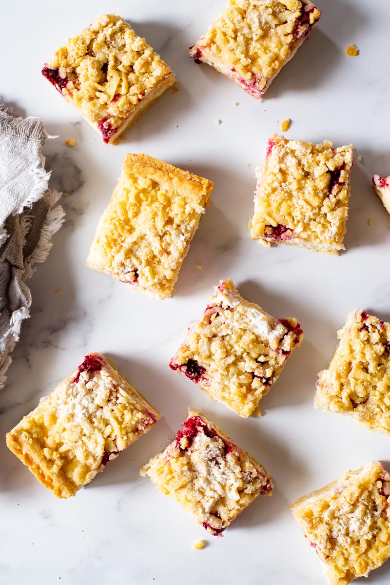
[[[378,461],[291,506],[330,585],[367,577],[390,556],[390,474]]]

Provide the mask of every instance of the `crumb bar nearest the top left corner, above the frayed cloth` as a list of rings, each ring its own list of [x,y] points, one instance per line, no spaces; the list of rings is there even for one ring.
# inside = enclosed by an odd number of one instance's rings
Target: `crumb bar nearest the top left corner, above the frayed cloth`
[[[175,82],[146,40],[109,14],[68,39],[42,74],[111,144]]]

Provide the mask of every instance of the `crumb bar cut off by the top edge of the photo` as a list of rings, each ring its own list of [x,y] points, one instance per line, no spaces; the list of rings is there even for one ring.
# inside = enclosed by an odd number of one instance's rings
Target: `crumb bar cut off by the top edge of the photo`
[[[320,16],[309,0],[229,0],[189,54],[259,99]]]

